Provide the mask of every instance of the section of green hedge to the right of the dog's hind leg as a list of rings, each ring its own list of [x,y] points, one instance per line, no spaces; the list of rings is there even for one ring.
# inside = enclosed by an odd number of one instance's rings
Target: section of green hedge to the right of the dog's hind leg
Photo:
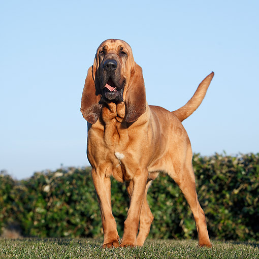
[[[259,154],[195,155],[193,166],[211,236],[258,240]]]

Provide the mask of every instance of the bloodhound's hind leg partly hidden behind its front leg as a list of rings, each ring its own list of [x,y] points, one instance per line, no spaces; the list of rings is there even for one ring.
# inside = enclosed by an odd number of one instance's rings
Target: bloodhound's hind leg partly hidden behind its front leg
[[[147,182],[145,197],[140,213],[140,225],[139,225],[139,234],[137,236],[136,245],[142,246],[149,234],[151,223],[154,219],[151,210],[147,203],[147,191],[151,185],[152,180]]]

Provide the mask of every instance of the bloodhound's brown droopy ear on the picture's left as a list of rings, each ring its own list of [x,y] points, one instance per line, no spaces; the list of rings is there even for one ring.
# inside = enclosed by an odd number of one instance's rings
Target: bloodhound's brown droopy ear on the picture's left
[[[98,120],[102,110],[102,105],[99,104],[101,97],[98,90],[95,88],[93,78],[95,76],[95,71],[95,65],[88,69],[80,109],[83,117],[92,124]]]

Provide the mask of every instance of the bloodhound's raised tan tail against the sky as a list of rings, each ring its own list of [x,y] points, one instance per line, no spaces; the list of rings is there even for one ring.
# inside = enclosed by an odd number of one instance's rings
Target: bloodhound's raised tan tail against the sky
[[[199,84],[195,94],[193,94],[192,98],[184,106],[172,112],[180,121],[188,118],[200,106],[213,76],[214,72],[203,79],[203,81]]]

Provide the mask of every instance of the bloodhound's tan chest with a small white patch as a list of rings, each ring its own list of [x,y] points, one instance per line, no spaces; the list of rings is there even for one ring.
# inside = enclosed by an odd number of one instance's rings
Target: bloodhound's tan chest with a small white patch
[[[130,178],[126,173],[128,161],[131,161],[131,134],[126,123],[117,119],[105,125],[93,124],[88,131],[87,155],[91,165],[113,175],[118,181]]]

